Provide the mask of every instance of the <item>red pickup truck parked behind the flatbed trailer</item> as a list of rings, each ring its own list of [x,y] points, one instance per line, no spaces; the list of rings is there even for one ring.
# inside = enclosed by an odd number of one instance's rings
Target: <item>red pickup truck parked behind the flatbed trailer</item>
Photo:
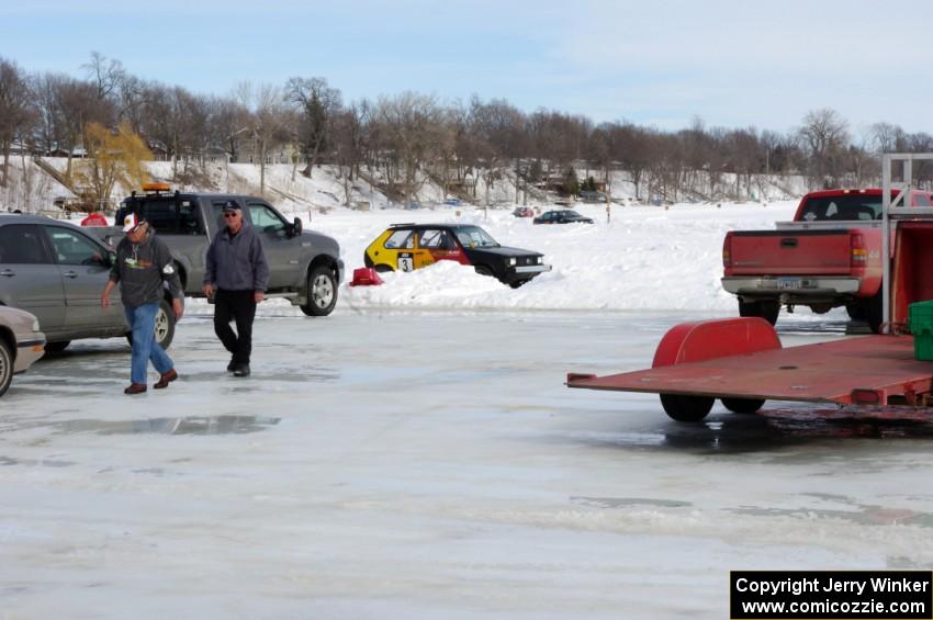
[[[892,199],[898,192],[892,193]],[[906,205],[933,206],[911,190]],[[852,318],[881,325],[881,190],[828,190],[800,200],[793,222],[775,230],[732,230],[722,243],[722,286],[741,316],[772,324],[780,306],[823,314],[845,306]]]

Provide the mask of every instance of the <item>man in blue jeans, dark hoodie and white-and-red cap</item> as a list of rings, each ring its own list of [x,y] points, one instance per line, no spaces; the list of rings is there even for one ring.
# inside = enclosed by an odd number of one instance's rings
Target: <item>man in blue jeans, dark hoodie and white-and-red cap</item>
[[[164,283],[168,283],[172,312],[178,319],[183,312],[184,293],[168,246],[156,238],[149,224],[130,214],[125,217],[123,230],[126,236],[116,246],[116,261],[103,289],[101,306],[110,306],[110,292],[120,283],[123,312],[133,334],[131,383],[123,393],[142,394],[146,391],[149,362],[159,373],[159,380],[153,386],[156,390],[168,387],[178,379],[171,358],[156,342],[156,313],[165,292]]]

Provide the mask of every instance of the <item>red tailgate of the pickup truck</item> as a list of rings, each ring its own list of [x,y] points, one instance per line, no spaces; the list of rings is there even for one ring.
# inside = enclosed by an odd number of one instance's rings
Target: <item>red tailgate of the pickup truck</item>
[[[737,230],[730,233],[732,275],[847,274],[851,233],[835,230]]]

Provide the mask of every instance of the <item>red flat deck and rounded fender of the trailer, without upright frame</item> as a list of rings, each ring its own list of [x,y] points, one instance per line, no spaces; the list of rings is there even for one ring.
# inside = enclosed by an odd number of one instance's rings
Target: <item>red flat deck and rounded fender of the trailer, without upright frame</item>
[[[784,349],[766,320],[733,318],[676,326],[659,345],[649,370],[607,376],[570,373],[567,386],[670,395],[700,409],[707,402],[711,407],[715,398],[733,410],[756,410],[764,401],[919,406],[933,388],[933,363],[914,359],[908,335]],[[671,415],[667,404],[665,410]],[[683,421],[701,419],[708,410],[684,414]]]

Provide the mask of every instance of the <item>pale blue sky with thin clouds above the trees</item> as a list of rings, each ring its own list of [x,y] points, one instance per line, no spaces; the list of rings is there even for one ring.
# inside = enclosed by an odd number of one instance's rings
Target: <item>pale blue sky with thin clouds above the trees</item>
[[[0,56],[83,77],[97,50],[200,93],[321,76],[345,101],[475,93],[663,129],[784,132],[832,108],[857,139],[878,121],[933,134],[931,26],[915,0],[0,0]]]

